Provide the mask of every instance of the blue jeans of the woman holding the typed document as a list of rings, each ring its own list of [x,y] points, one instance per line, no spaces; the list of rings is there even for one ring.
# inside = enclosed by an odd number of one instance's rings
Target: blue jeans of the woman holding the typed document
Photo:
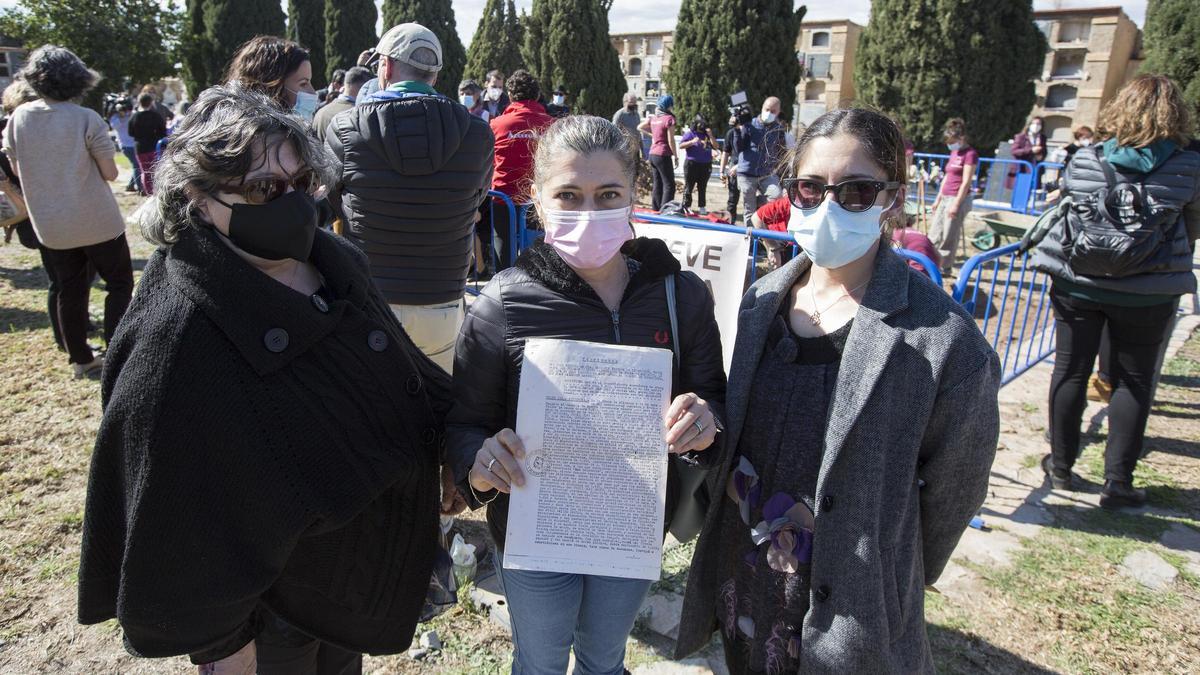
[[[622,675],[625,640],[650,583],[590,574],[499,569],[512,619],[512,674]]]

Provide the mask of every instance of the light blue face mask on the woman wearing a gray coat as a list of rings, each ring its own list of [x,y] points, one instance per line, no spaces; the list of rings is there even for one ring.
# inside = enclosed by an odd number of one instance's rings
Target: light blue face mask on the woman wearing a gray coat
[[[880,240],[883,211],[883,207],[871,207],[856,214],[829,198],[812,210],[797,209],[793,204],[787,231],[812,264],[836,269],[865,256]]]

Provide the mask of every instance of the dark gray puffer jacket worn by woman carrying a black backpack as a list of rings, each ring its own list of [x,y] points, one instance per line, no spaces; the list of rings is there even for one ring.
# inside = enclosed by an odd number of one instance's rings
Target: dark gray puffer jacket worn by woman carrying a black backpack
[[[1106,185],[1097,147],[1075,153],[1063,180],[1067,193],[1076,204]],[[1045,234],[1033,255],[1033,264],[1051,276],[1087,288],[1117,291],[1136,295],[1182,295],[1196,289],[1192,271],[1192,243],[1200,237],[1200,154],[1180,151],[1147,177],[1130,173],[1117,165],[1118,180],[1141,183],[1147,203],[1154,209],[1171,210],[1162,223],[1162,244],[1138,267],[1138,273],[1120,277],[1085,276],[1070,265],[1074,217],[1062,219]],[[1177,214],[1177,215],[1175,215]]]

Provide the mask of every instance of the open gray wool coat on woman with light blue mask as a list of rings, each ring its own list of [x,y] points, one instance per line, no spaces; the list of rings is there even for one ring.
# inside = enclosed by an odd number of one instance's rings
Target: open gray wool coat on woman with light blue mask
[[[720,509],[768,327],[811,263],[800,255],[742,300],[726,395],[725,456],[688,577],[677,656],[715,622]],[[1000,363],[974,321],[890,249],[842,353],[817,477],[811,608],[802,673],[932,673],[925,586],[988,491],[1000,436]],[[749,532],[748,532],[749,536]]]

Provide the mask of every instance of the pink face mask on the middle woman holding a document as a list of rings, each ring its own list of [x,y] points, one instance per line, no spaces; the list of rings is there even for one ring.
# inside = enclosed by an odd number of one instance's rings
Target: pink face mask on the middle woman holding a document
[[[598,269],[634,238],[629,207],[602,211],[556,211],[542,209],[546,244],[576,269]]]

